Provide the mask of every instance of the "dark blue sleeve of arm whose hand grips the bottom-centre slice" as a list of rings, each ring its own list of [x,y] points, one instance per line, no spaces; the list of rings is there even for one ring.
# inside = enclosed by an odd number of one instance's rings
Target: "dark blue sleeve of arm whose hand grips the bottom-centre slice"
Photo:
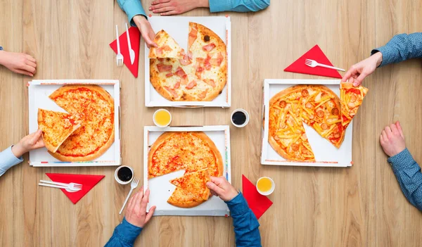
[[[231,217],[233,218],[234,234],[237,247],[261,246],[260,223],[250,210],[248,203],[241,193],[231,201],[227,201]]]

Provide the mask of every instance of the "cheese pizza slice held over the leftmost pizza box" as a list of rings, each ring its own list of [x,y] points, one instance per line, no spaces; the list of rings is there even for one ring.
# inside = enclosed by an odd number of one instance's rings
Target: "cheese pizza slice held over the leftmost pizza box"
[[[42,130],[46,148],[52,153],[56,153],[63,141],[81,126],[81,122],[75,115],[38,109],[38,128]]]

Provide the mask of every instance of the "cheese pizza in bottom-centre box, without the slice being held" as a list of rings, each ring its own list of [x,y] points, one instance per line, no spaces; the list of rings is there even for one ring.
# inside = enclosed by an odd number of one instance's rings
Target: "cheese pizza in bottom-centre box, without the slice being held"
[[[203,132],[165,132],[158,137],[148,153],[148,178],[178,170],[185,170],[185,176],[200,170],[206,170],[207,177],[222,176],[222,155]],[[178,186],[167,202],[181,208],[192,208],[206,200],[205,194],[196,194],[185,186]]]

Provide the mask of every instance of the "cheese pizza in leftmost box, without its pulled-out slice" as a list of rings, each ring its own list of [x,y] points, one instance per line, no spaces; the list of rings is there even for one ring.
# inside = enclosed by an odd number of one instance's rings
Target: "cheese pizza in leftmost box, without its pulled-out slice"
[[[58,106],[82,120],[81,127],[51,156],[62,161],[89,161],[98,158],[113,144],[114,100],[96,85],[66,85],[49,96]]]

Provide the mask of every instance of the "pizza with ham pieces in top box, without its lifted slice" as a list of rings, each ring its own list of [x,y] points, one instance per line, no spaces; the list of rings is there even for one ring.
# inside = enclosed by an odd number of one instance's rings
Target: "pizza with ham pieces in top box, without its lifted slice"
[[[212,101],[227,82],[226,44],[207,27],[189,23],[188,52],[181,50],[177,58],[150,59],[151,84],[170,101]]]

